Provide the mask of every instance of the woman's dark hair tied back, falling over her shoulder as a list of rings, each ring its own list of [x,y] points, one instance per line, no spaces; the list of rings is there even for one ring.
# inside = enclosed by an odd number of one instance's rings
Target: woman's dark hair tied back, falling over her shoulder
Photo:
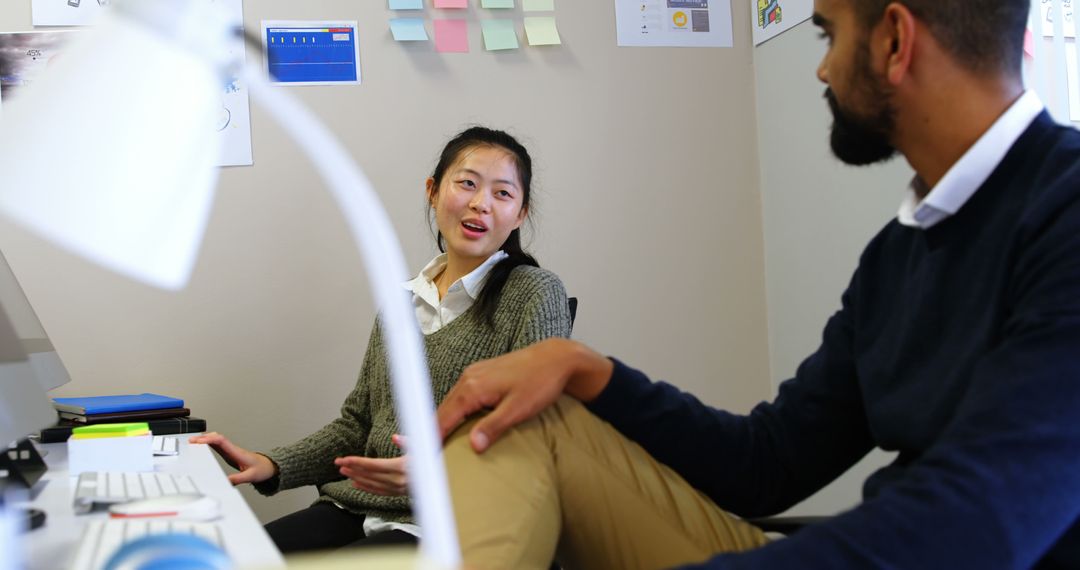
[[[438,157],[438,163],[435,165],[435,172],[431,175],[434,180],[435,191],[438,191],[446,171],[465,152],[476,147],[495,147],[510,153],[514,160],[514,165],[517,167],[517,175],[522,179],[522,207],[528,212],[529,198],[532,194],[532,159],[529,158],[529,152],[525,150],[525,147],[517,139],[509,134],[483,126],[472,126],[462,131],[443,148],[443,153]],[[428,208],[430,212],[430,204]],[[438,243],[438,250],[446,252],[443,243],[443,234],[437,230],[436,232],[435,241]],[[510,272],[517,266],[540,267],[536,258],[522,249],[521,228],[510,232],[507,241],[502,243],[499,249],[505,252],[509,257],[491,268],[491,271],[487,274],[487,281],[484,283],[484,288],[481,289],[480,297],[476,299],[481,315],[492,327],[495,326],[495,310],[499,304],[499,295],[507,285]]]

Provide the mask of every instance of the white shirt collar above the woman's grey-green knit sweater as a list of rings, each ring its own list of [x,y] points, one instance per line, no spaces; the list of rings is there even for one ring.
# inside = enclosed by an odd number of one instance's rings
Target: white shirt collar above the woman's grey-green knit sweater
[[[432,259],[419,275],[405,283],[405,288],[413,291],[413,307],[420,331],[431,335],[468,311],[484,288],[491,268],[507,257],[510,256],[501,249],[491,254],[480,267],[450,284],[442,299],[438,298],[435,277],[446,269],[446,254]]]

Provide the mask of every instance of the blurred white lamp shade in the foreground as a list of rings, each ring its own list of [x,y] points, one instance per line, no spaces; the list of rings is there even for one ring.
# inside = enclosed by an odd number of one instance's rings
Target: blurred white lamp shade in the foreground
[[[219,154],[220,81],[122,16],[80,32],[0,116],[0,213],[168,289],[191,273]]]

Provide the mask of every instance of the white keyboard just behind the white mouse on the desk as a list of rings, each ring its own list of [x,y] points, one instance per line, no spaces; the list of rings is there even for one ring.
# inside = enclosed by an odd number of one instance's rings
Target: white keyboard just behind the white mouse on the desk
[[[94,505],[124,503],[163,494],[201,494],[188,475],[172,473],[86,472],[75,487],[76,513],[89,513]]]

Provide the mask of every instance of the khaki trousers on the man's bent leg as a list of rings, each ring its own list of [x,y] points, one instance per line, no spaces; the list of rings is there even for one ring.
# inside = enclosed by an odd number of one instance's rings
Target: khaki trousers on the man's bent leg
[[[445,448],[467,568],[670,568],[767,542],[576,399],[480,456],[474,422]]]

